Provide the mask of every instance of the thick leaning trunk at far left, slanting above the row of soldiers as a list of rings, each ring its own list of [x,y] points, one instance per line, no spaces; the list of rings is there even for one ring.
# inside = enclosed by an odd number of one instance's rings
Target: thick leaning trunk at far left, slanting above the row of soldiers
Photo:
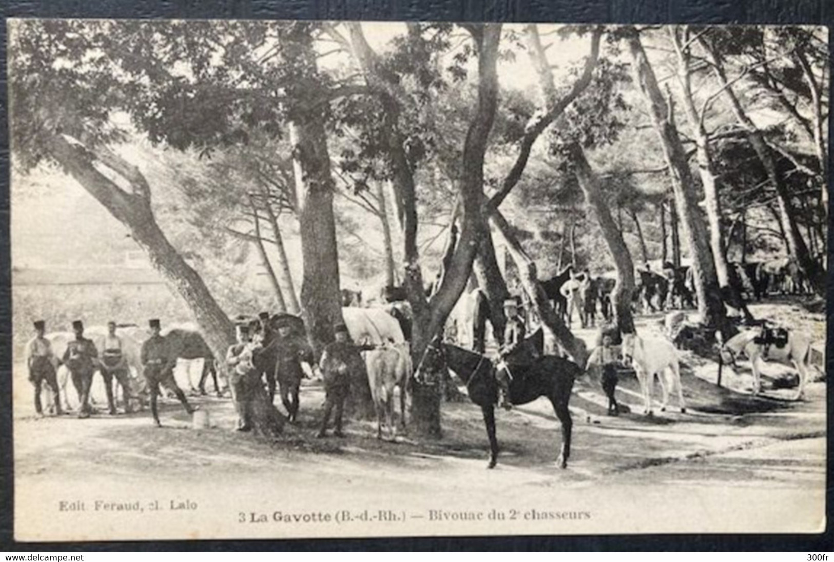
[[[185,262],[159,228],[151,208],[150,187],[139,169],[106,147],[98,146],[91,151],[82,143],[68,142],[61,134],[49,137],[46,148],[88,193],[130,229],[133,239],[148,253],[153,267],[168,279],[168,284],[188,304],[214,357],[225,358],[229,346],[234,344],[234,326],[208,292],[203,278]],[[133,193],[126,192],[101,173],[94,165],[97,162],[124,178]],[[218,364],[221,373],[227,376],[225,362],[220,360]],[[255,431],[269,437],[277,436],[283,428],[283,419],[265,394],[258,400],[255,410],[264,415],[255,417]]]

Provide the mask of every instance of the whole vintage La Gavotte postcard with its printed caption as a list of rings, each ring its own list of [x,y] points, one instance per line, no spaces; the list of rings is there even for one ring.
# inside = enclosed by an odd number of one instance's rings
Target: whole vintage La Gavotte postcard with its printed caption
[[[827,40],[9,20],[15,538],[822,532]]]

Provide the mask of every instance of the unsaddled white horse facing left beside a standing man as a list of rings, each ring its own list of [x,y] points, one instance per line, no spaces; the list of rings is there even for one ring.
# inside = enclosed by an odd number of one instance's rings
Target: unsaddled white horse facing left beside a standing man
[[[655,385],[655,375],[661,382],[661,393],[663,394],[661,412],[666,411],[666,406],[669,404],[669,394],[677,388],[681,414],[686,413],[677,349],[671,342],[662,338],[644,339],[637,334],[625,334],[620,353],[625,365],[634,366],[643,393],[645,414],[652,414],[651,392]]]

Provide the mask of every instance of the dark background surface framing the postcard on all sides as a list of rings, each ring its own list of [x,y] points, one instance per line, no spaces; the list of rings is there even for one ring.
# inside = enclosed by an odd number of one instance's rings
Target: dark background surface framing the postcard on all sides
[[[3,0],[0,0],[3,2]],[[6,0],[5,18],[252,18],[451,20],[558,23],[740,23],[834,24],[831,0]],[[831,55],[831,30],[829,53]],[[0,28],[0,553],[15,551],[263,551],[263,550],[768,550],[834,552],[831,524],[823,534],[653,534],[412,539],[207,540],[114,543],[16,543],[13,539],[13,443],[11,388],[11,264],[9,241],[8,90],[6,26]],[[830,76],[830,74],[829,74]],[[830,84],[829,84],[830,87]],[[829,118],[829,170],[832,123]],[[831,173],[829,173],[831,193]],[[829,216],[828,248],[834,241]],[[71,226],[69,227],[71,228]],[[829,263],[831,265],[831,263]],[[827,301],[834,296],[829,269]],[[829,306],[828,323],[834,311]],[[827,372],[834,373],[828,332]],[[829,486],[831,514],[831,405],[828,389]],[[766,492],[763,492],[766,493]],[[639,514],[633,514],[639,517]],[[684,515],[684,514],[681,514]],[[787,515],[787,514],[786,514]],[[830,520],[830,519],[829,519]],[[804,559],[804,558],[803,558]]]

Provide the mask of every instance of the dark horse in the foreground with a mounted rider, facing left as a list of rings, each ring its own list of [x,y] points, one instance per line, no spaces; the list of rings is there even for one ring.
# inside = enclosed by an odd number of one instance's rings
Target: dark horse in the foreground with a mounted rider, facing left
[[[495,439],[495,404],[498,401],[498,385],[495,382],[495,365],[485,355],[452,344],[440,344],[437,339],[426,349],[425,361],[430,364],[445,364],[455,371],[466,384],[472,402],[480,406],[484,414],[486,434],[490,439],[490,464],[495,468],[498,462],[498,440]],[[500,369],[505,369],[502,366]],[[510,366],[510,399],[513,404],[527,404],[545,396],[553,404],[556,417],[562,425],[562,448],[556,461],[565,468],[570,457],[570,419],[568,401],[574,379],[582,374],[581,369],[569,359],[545,355],[534,359],[529,365]]]

